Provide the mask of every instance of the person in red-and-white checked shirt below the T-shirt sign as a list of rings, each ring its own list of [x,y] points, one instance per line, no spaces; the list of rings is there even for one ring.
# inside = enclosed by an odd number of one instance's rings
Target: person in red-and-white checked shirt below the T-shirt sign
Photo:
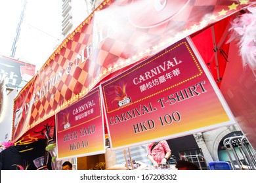
[[[153,164],[153,167],[167,164],[167,159],[171,156],[171,149],[167,141],[152,142],[147,144],[146,156]]]

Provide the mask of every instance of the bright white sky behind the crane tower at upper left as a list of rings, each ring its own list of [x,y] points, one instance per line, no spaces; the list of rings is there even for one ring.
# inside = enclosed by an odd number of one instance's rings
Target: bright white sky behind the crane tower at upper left
[[[11,56],[24,0],[0,0],[0,55]],[[62,41],[62,0],[27,0],[14,59],[43,66]]]

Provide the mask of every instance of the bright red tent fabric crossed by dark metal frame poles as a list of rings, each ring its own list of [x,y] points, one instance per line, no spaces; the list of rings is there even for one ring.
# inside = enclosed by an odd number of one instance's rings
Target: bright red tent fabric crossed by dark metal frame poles
[[[219,87],[223,79],[226,63],[228,62],[229,44],[226,42],[228,40],[228,29],[230,29],[231,19],[232,16],[229,16],[192,36],[192,41]]]

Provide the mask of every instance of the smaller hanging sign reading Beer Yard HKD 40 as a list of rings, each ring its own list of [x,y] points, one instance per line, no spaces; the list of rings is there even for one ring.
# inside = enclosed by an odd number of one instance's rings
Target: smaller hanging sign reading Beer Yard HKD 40
[[[58,159],[103,154],[104,137],[99,88],[56,114]]]

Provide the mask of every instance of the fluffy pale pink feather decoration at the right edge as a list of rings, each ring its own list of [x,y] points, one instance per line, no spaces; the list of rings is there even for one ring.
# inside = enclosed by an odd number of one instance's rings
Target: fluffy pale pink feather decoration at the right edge
[[[247,10],[231,23],[228,42],[238,41],[243,66],[256,70],[256,7],[248,7]]]

